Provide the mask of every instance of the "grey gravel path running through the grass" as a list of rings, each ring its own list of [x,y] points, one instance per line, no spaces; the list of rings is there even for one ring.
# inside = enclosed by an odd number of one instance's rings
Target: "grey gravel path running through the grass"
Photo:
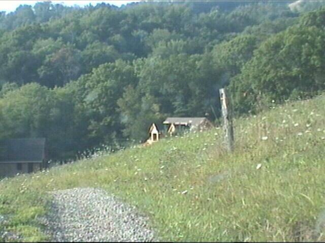
[[[44,219],[51,241],[157,241],[146,217],[104,190],[75,188],[51,194],[52,210]]]

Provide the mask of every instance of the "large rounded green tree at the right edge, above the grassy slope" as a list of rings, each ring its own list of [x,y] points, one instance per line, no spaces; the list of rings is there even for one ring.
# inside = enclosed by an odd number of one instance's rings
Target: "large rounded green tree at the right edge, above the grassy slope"
[[[281,102],[291,93],[306,97],[324,86],[325,35],[317,27],[289,27],[270,37],[231,80],[236,109],[245,112],[265,102]]]

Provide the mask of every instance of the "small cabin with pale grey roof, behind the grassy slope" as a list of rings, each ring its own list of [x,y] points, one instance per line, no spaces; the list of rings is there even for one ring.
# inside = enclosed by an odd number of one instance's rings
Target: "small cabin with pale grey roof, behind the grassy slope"
[[[168,135],[176,135],[185,131],[203,131],[213,125],[206,117],[168,117],[164,122],[168,125]]]

